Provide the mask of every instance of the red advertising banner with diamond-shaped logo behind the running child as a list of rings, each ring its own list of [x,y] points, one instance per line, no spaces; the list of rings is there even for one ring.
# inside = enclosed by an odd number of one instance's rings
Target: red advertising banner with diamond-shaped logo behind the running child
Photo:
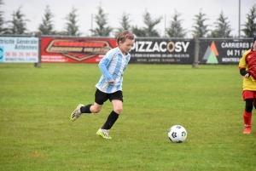
[[[99,63],[116,47],[114,38],[42,37],[41,61],[60,63]]]

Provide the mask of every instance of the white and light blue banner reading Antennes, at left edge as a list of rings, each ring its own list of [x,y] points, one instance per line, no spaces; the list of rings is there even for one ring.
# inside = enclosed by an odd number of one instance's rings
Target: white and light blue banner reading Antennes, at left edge
[[[38,63],[38,38],[0,37],[0,62]]]

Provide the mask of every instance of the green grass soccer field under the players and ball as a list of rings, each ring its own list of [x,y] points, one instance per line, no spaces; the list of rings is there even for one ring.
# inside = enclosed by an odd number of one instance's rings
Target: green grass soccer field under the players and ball
[[[70,121],[94,102],[100,75],[96,64],[0,64],[0,170],[256,170],[256,113],[242,134],[238,66],[130,64],[112,140],[96,136],[109,101]],[[175,124],[183,143],[167,137]]]

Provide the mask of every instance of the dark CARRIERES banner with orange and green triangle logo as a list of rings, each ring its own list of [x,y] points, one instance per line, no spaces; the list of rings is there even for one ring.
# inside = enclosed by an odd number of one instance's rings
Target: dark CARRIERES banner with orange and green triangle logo
[[[234,38],[200,39],[199,63],[238,64],[241,55],[253,47],[253,40]]]

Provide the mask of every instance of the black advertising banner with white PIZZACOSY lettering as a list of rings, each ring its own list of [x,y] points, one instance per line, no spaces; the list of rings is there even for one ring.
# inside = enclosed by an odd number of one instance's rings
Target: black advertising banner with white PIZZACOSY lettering
[[[136,38],[131,63],[191,64],[195,41],[184,38]]]

